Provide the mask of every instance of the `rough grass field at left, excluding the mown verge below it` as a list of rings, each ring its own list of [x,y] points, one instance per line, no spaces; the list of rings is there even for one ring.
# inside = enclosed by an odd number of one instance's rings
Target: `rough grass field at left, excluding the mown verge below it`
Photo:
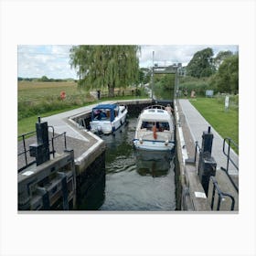
[[[60,92],[66,99],[60,99]],[[68,82],[18,82],[18,121],[48,112],[69,110],[94,101],[88,91],[78,90],[77,83]]]

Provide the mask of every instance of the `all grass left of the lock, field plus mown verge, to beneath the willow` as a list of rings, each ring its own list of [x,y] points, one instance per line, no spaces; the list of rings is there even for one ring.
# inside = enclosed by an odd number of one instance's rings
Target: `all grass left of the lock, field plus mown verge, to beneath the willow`
[[[45,117],[66,112],[81,106],[98,102],[89,91],[78,89],[75,81],[38,82],[19,81],[18,86],[18,135],[35,130],[37,116]],[[131,89],[130,89],[131,90]],[[66,99],[60,100],[60,92],[66,92]],[[124,89],[122,90],[122,92]],[[107,92],[107,91],[103,91]],[[127,91],[126,91],[127,92]],[[107,100],[146,98],[144,96],[120,96]],[[102,99],[103,101],[104,99]]]

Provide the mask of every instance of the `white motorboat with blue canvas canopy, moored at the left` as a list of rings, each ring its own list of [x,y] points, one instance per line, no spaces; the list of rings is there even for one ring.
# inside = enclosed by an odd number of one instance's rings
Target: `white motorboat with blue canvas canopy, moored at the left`
[[[117,104],[100,104],[91,112],[91,132],[109,134],[126,121],[127,107]]]

